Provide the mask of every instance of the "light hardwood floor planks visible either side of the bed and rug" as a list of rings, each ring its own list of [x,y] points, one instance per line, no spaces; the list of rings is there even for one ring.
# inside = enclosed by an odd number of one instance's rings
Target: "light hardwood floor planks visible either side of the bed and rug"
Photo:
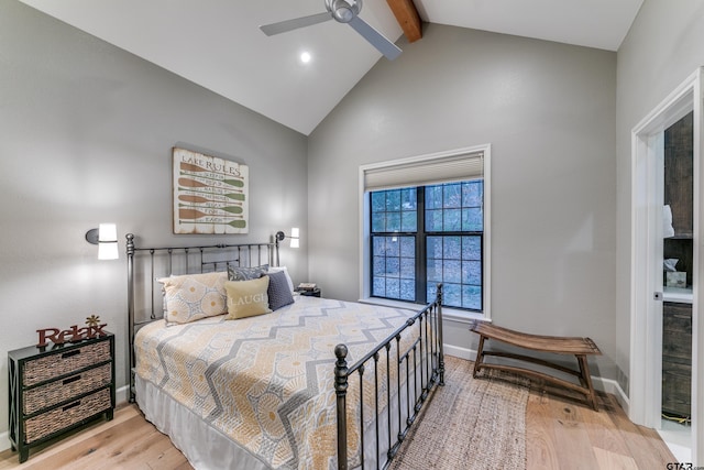
[[[532,389],[526,413],[528,470],[666,469],[674,457],[658,434],[634,425],[612,395],[600,394],[600,412],[574,400]],[[18,463],[0,452],[0,470],[187,470],[170,440],[147,423],[136,405],[123,405],[99,422]],[[452,469],[455,470],[455,469]]]

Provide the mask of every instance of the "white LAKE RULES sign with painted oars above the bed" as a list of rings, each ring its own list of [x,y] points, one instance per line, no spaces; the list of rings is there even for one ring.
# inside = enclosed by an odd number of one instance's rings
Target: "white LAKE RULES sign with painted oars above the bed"
[[[173,149],[174,233],[248,233],[249,167]]]

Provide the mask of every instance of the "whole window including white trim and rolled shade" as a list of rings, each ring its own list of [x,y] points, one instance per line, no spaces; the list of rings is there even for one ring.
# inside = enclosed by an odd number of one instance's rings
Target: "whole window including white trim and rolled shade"
[[[490,317],[488,159],[484,145],[360,168],[362,299],[425,304],[443,283],[443,305]]]

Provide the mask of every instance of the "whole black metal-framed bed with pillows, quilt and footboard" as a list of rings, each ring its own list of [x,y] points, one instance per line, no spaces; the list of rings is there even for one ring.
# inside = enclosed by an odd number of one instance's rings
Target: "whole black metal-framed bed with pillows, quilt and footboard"
[[[441,285],[419,310],[293,294],[278,305],[293,284],[276,240],[142,248],[128,234],[127,253],[130,401],[196,469],[387,468],[443,384]],[[223,277],[227,300],[188,284],[217,280],[220,293]],[[234,318],[256,297],[238,293],[264,280],[276,308]],[[164,308],[174,298],[187,320]]]

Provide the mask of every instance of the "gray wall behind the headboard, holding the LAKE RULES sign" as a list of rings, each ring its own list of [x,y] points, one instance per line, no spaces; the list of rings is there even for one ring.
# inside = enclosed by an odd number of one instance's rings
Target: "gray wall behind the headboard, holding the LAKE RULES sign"
[[[125,383],[127,263],[97,260],[84,236],[99,222],[156,245],[267,241],[307,222],[304,135],[14,0],[0,1],[0,358],[97,314]],[[175,144],[250,166],[249,234],[172,234]],[[307,277],[305,243],[282,256]],[[7,378],[3,359],[0,437]]]

